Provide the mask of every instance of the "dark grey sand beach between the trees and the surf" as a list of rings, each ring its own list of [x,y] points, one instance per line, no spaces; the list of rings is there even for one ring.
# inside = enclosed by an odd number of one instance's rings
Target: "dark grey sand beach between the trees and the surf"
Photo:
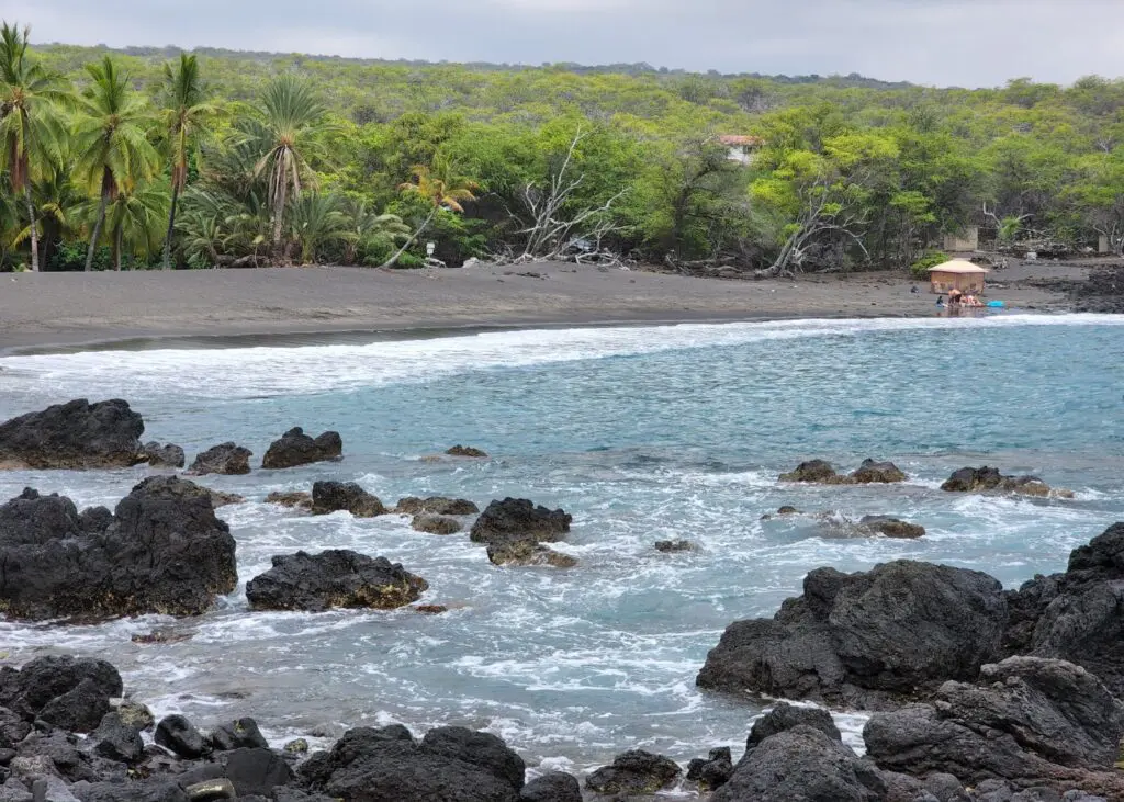
[[[1013,267],[990,298],[1063,310]],[[910,293],[916,285],[917,293]],[[165,338],[447,329],[927,317],[927,285],[886,274],[720,281],[564,264],[384,272],[353,267],[0,275],[0,353]]]

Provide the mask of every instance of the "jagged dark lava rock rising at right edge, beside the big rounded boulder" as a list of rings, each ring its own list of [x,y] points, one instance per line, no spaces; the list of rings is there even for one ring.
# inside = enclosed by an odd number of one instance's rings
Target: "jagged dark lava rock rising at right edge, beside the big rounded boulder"
[[[1124,523],[1073,549],[1063,574],[1007,593],[1008,654],[1085,666],[1124,699]]]

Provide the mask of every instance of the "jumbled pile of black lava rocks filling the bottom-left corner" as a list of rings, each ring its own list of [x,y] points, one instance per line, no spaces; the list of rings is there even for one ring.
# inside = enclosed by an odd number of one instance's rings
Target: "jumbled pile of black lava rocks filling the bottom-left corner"
[[[85,699],[66,701],[76,691]],[[305,759],[307,742],[272,749],[250,718],[203,733],[169,716],[146,747],[139,732],[151,718],[136,718],[124,704],[108,709],[121,692],[117,671],[98,660],[44,657],[20,671],[0,667],[0,801],[581,800],[577,780],[565,774],[525,785],[523,759],[501,739],[461,727],[438,727],[420,740],[400,724],[357,728]],[[55,709],[81,718],[61,718]]]

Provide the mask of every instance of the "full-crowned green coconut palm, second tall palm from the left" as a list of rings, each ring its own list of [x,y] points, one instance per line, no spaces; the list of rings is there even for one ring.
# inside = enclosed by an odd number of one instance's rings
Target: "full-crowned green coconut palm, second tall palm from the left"
[[[78,179],[100,198],[85,257],[85,270],[90,271],[109,202],[151,177],[160,156],[148,142],[152,116],[144,99],[133,92],[128,75],[118,71],[109,56],[88,65],[87,72],[92,82],[80,98],[82,113],[74,128],[74,152]]]

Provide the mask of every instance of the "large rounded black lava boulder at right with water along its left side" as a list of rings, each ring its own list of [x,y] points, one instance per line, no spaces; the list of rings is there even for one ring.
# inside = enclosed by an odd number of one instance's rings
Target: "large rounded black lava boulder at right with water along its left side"
[[[1000,655],[1007,617],[1001,585],[979,572],[912,561],[818,568],[773,619],[727,627],[696,682],[877,710],[975,677]]]

